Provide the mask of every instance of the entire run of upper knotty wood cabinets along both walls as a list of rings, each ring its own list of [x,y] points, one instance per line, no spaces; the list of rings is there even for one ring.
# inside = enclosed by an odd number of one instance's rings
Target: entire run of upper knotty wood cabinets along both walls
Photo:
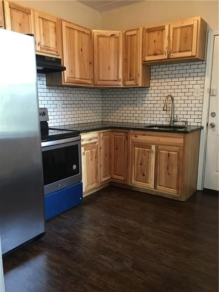
[[[4,11],[3,11],[4,10]],[[39,55],[59,57],[63,73],[47,73],[51,86],[149,87],[150,65],[205,59],[207,23],[201,17],[146,28],[91,30],[0,0],[0,28],[33,34]]]

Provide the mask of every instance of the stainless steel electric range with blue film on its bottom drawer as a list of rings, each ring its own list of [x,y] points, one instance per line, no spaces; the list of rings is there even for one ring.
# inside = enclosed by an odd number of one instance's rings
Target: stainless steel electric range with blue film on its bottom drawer
[[[39,109],[46,219],[82,202],[79,131],[48,126],[46,108]]]

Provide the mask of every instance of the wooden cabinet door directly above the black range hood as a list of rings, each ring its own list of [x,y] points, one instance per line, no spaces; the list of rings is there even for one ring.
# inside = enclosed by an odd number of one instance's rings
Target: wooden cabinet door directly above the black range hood
[[[61,54],[60,20],[35,11],[36,51],[49,55]]]

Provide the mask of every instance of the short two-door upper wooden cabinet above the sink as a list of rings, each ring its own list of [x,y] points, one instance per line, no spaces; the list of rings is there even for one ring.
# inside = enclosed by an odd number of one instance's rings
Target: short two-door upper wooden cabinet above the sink
[[[144,28],[143,62],[156,65],[204,60],[206,29],[201,17]]]

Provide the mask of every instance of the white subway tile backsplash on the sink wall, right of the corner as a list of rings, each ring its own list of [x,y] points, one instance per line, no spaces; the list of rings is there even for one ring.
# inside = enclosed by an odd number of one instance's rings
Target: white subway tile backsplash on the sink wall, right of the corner
[[[127,122],[133,120],[139,123],[167,124],[170,119],[170,103],[167,111],[163,111],[165,96],[174,96],[174,115],[178,119],[187,119],[191,125],[201,125],[205,62],[190,62],[151,67],[151,87],[135,89],[103,89],[102,116],[104,121]],[[200,85],[200,96],[194,97],[194,86]],[[111,98],[113,94],[113,100]],[[130,117],[128,94],[136,113]],[[142,107],[136,106],[136,98],[142,97]],[[122,105],[121,105],[121,101]],[[110,108],[109,108],[110,105]],[[195,108],[194,108],[195,107]],[[111,110],[112,109],[112,110]],[[139,110],[141,109],[141,113]],[[120,112],[123,112],[121,114]],[[126,113],[126,115],[125,115]]]

